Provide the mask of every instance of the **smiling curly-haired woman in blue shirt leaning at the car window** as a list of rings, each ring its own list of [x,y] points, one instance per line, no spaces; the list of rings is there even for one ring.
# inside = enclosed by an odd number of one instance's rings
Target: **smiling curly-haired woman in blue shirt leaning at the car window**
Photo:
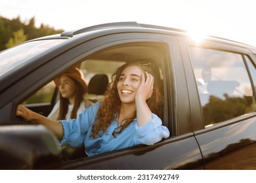
[[[126,63],[112,76],[104,101],[95,103],[72,120],[51,120],[19,105],[26,121],[43,124],[60,139],[60,146],[82,146],[88,156],[137,144],[154,144],[169,137],[162,125],[161,94],[149,65]]]

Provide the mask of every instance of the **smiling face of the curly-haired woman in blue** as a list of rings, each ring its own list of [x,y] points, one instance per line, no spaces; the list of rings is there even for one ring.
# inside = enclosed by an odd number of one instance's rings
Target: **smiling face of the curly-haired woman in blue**
[[[137,66],[129,66],[123,70],[117,82],[117,91],[122,103],[135,103],[142,74],[142,69]]]

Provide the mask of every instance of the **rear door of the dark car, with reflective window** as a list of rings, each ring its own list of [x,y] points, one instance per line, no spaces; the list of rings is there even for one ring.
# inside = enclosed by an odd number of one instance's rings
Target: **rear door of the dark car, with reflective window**
[[[194,131],[205,169],[255,169],[255,60],[242,46],[179,39],[205,127]],[[191,81],[192,82],[192,81]]]

